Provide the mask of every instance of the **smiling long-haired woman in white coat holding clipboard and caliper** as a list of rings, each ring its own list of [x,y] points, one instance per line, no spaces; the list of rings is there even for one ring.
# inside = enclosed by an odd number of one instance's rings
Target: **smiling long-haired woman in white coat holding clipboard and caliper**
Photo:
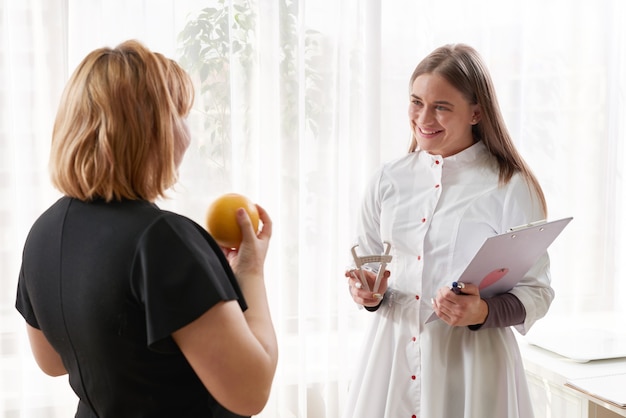
[[[389,242],[393,261],[376,293],[346,272],[353,300],[374,313],[344,417],[530,418],[511,327],[524,334],[548,311],[548,255],[489,299],[450,285],[486,238],[546,218],[541,186],[473,48],[436,49],[409,89],[409,153],[372,178],[357,231],[359,253]],[[433,311],[440,320],[425,323]]]

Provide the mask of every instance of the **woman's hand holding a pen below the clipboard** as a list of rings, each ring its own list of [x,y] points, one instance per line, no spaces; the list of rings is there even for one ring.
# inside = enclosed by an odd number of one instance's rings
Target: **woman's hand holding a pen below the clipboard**
[[[433,299],[433,309],[445,323],[457,327],[483,324],[489,313],[487,303],[473,284],[465,284],[459,294],[442,287]]]

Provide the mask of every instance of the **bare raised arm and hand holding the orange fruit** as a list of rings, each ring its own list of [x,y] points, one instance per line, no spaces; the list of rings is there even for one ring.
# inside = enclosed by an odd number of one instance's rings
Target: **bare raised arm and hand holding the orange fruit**
[[[172,335],[207,390],[240,415],[256,415],[265,407],[278,361],[263,275],[272,224],[258,209],[261,232],[256,235],[240,211],[243,242],[238,251],[226,250],[248,309],[242,312],[236,301],[218,303]]]

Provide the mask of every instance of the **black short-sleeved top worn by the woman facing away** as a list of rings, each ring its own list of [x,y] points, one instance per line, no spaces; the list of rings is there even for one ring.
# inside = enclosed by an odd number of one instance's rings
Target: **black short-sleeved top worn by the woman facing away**
[[[61,198],[33,225],[16,308],[61,355],[76,417],[233,417],[171,337],[219,301],[247,308],[197,223],[144,201]]]

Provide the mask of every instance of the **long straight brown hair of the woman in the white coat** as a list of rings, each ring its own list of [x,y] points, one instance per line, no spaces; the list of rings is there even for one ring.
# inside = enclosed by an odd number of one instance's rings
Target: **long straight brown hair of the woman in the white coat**
[[[478,52],[464,44],[444,45],[424,58],[413,71],[413,82],[422,74],[439,74],[459,90],[471,104],[480,106],[480,121],[472,127],[475,140],[482,141],[495,157],[499,167],[500,184],[506,184],[513,174],[520,172],[535,191],[547,215],[547,204],[541,185],[517,151],[500,112],[495,88],[487,67]],[[415,136],[411,138],[409,152],[417,149]]]

